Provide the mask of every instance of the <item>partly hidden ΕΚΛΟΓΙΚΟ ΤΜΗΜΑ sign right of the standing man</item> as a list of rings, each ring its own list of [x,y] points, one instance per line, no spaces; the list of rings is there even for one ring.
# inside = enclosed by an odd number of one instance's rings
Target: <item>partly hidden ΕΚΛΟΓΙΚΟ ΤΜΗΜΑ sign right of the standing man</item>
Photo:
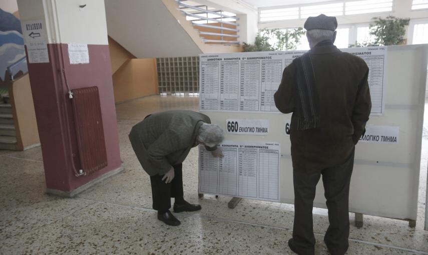
[[[365,133],[359,139],[360,142],[371,143],[398,143],[399,126],[366,125]]]

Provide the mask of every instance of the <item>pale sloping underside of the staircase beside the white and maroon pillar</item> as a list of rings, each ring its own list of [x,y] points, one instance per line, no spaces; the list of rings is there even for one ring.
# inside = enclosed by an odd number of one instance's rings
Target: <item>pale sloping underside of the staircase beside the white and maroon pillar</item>
[[[202,51],[161,0],[106,0],[109,35],[139,58]]]

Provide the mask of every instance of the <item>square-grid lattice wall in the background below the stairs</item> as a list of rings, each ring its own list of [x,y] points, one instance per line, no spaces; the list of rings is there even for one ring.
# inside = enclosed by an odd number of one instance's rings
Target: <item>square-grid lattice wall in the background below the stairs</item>
[[[199,56],[156,58],[160,94],[199,93]]]

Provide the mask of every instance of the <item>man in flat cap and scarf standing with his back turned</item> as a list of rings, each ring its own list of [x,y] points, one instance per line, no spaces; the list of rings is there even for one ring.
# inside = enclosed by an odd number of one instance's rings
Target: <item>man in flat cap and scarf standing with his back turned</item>
[[[274,95],[281,112],[293,112],[294,225],[288,246],[298,254],[315,252],[312,206],[322,174],[330,223],[324,242],[331,254],[344,254],[355,144],[371,109],[368,67],[360,57],[333,45],[335,17],[309,17],[304,27],[311,49],[284,69]]]

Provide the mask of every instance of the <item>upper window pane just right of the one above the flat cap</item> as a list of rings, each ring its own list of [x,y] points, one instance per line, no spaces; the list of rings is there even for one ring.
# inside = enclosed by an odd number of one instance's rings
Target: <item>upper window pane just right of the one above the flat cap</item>
[[[345,15],[392,11],[392,0],[364,0],[345,3]]]

